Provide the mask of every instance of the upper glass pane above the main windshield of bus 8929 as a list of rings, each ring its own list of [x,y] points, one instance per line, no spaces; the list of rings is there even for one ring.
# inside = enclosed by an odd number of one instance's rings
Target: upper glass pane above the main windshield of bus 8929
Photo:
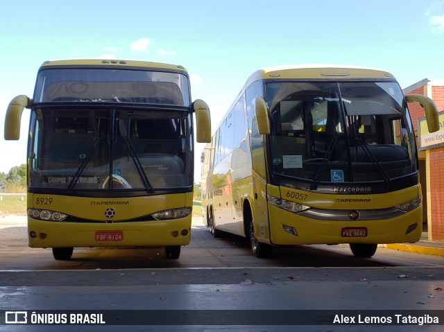
[[[142,69],[53,68],[37,76],[34,103],[144,103],[189,107],[182,73]]]

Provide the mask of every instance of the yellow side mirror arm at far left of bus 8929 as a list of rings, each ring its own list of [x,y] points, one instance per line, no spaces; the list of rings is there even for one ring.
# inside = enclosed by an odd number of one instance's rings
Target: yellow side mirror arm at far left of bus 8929
[[[17,96],[8,105],[5,117],[5,139],[18,140],[20,139],[20,122],[22,120],[23,110],[31,106],[33,101],[27,96]]]

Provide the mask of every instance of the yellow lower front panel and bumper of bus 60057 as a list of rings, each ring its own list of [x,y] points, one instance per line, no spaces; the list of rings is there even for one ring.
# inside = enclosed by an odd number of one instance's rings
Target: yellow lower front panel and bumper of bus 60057
[[[268,192],[277,193],[276,187]],[[319,209],[358,210],[384,209],[393,207],[418,197],[420,185],[411,186],[400,191],[373,195],[334,195],[298,191],[299,197],[307,195],[305,200],[287,197],[293,189],[281,187],[282,198],[293,202],[307,204]],[[293,195],[293,197],[296,195]],[[414,243],[419,241],[422,232],[422,206],[401,216],[380,220],[318,220],[300,216],[298,213],[280,209],[268,202],[271,243],[275,245],[298,244],[338,244],[338,243]],[[406,234],[407,228],[416,225],[416,229]],[[298,236],[284,231],[284,225],[294,227]],[[345,227],[366,227],[365,237],[342,237],[341,229]]]

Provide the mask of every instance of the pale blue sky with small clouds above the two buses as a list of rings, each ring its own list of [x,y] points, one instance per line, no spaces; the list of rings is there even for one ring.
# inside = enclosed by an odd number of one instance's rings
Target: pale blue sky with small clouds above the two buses
[[[26,163],[3,138],[9,102],[33,96],[46,60],[105,58],[181,64],[212,130],[257,69],[350,64],[390,71],[402,88],[444,79],[444,0],[6,1],[0,12],[0,172]],[[439,110],[441,111],[441,110]],[[195,182],[200,179],[196,144]]]

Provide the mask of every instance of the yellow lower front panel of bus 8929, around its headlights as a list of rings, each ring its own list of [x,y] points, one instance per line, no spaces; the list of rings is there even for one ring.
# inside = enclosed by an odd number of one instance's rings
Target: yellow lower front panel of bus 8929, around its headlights
[[[166,209],[192,207],[192,193],[151,195],[137,198],[83,198],[63,195],[28,194],[28,208],[50,209],[67,213],[85,222],[37,220],[28,216],[30,247],[117,247],[188,245],[191,236],[191,213],[185,218],[143,220],[143,216]],[[36,204],[39,202],[39,204]],[[51,204],[42,204],[49,203]],[[121,204],[119,204],[120,202]],[[127,204],[124,202],[128,202]],[[105,211],[114,209],[114,217]],[[139,218],[142,221],[125,221]],[[114,220],[111,222],[111,220]],[[186,230],[186,235],[181,232]],[[36,238],[29,233],[34,231]],[[121,231],[120,241],[96,241],[96,231]],[[185,233],[185,231],[184,231]],[[43,235],[42,235],[43,234]]]

